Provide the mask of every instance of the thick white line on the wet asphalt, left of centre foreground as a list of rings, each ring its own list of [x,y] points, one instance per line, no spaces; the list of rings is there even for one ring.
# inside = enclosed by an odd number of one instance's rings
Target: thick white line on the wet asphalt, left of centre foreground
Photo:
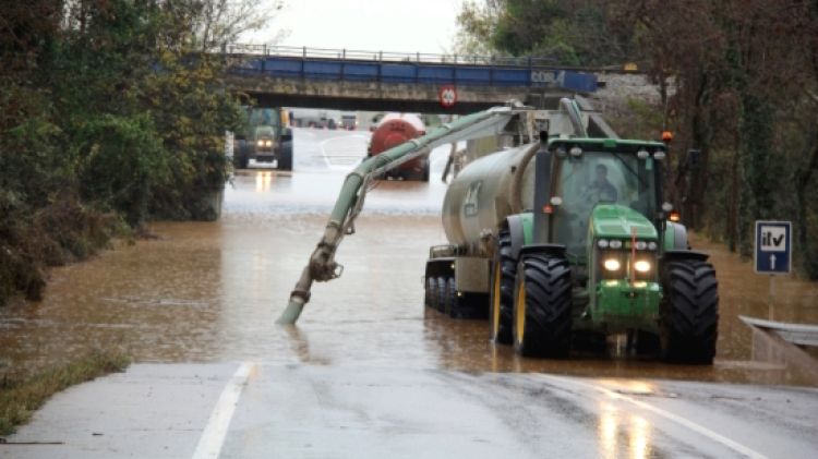
[[[244,387],[248,385],[250,374],[255,369],[255,364],[251,362],[244,362],[236,371],[236,374],[230,378],[221,391],[216,407],[210,413],[210,419],[207,421],[207,425],[202,431],[202,436],[199,438],[199,445],[196,450],[193,452],[193,459],[205,459],[205,458],[218,458],[221,452],[221,447],[225,444],[227,437],[227,430],[230,427],[230,421],[232,420],[236,406],[239,403],[239,398]]]

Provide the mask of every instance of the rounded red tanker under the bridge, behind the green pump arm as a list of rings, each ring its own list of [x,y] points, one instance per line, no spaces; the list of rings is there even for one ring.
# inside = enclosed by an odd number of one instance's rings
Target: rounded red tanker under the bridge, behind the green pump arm
[[[366,157],[375,156],[404,142],[420,137],[426,128],[419,116],[412,113],[387,113],[372,132]],[[398,180],[429,181],[429,156],[417,159],[386,172],[386,178]]]

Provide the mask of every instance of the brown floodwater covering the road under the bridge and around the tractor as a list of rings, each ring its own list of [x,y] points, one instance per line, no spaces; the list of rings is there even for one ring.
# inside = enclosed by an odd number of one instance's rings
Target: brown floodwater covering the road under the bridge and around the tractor
[[[122,349],[139,362],[264,361],[318,365],[549,372],[588,376],[816,385],[785,364],[754,363],[751,333],[738,315],[818,323],[818,285],[753,273],[719,244],[709,252],[720,282],[721,318],[712,367],[652,359],[578,354],[524,359],[488,340],[483,321],[424,311],[421,276],[430,245],[444,243],[440,170],[431,183],[383,182],[337,261],[341,278],[313,288],[297,327],[274,324],[326,224],[350,150],[365,135],[297,134],[296,171],[251,170],[236,178],[216,222],[155,222],[156,240],[120,245],[56,268],[39,303],[0,310],[0,372],[21,374],[92,349]],[[323,137],[322,137],[323,136]],[[298,142],[303,148],[299,149]],[[308,142],[309,141],[309,142]],[[305,146],[304,146],[305,145]],[[340,145],[333,150],[333,145]],[[334,152],[340,152],[333,156]],[[351,159],[350,159],[351,158]]]

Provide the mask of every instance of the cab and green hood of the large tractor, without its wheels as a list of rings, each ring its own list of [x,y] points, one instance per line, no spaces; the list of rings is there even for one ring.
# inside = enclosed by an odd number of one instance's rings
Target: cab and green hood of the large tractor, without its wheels
[[[574,328],[657,333],[665,145],[557,138],[540,155],[550,167],[539,171],[537,190],[548,190],[548,201],[534,232],[565,247],[584,292],[574,299]]]

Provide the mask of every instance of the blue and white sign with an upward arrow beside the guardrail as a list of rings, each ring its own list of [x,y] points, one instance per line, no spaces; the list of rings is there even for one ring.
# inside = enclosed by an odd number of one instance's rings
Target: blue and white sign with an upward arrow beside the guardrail
[[[756,273],[790,274],[793,262],[790,221],[756,221]]]

